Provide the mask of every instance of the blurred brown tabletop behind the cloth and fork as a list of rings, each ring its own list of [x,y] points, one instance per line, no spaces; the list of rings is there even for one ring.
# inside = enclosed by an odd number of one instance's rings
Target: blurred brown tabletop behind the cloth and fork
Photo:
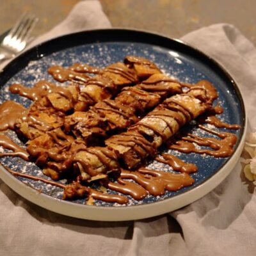
[[[65,19],[79,0],[0,0],[0,33],[10,29],[20,13],[40,18],[35,35]],[[138,28],[179,38],[189,31],[225,22],[234,24],[256,45],[255,0],[100,0],[114,27]]]

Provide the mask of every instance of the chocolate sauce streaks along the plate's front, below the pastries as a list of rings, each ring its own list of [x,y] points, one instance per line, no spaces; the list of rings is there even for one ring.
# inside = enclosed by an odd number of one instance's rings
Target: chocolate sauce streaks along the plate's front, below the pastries
[[[63,199],[86,197],[87,200],[93,198],[96,200],[102,200],[104,202],[118,204],[127,204],[129,201],[126,196],[102,193],[101,191],[88,188],[88,186],[83,186],[79,182],[74,181],[71,184],[65,185],[41,177],[13,172],[6,166],[4,166],[4,168],[6,168],[8,172],[12,173],[14,176],[41,181],[45,184],[50,184],[52,186],[57,186],[58,188],[64,189]],[[138,184],[127,181],[125,179],[132,179]],[[142,200],[148,194],[161,196],[166,190],[177,191],[184,186],[191,186],[191,184],[195,182],[195,180],[187,173],[168,173],[163,171],[150,170],[147,168],[140,168],[135,172],[122,170],[121,178],[119,178],[117,181],[118,183],[105,181],[105,184],[107,188],[119,193],[123,193],[125,195],[130,195],[135,200]]]

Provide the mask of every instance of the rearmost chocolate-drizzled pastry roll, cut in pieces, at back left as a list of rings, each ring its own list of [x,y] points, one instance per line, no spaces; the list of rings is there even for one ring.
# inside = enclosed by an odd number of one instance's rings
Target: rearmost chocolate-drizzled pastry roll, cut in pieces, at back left
[[[151,61],[148,61],[151,63]],[[38,136],[44,134],[46,131],[51,131],[64,124],[63,116],[75,111],[74,116],[84,116],[83,113],[76,113],[76,111],[87,111],[90,106],[105,99],[110,99],[118,93],[124,86],[130,86],[138,83],[138,75],[133,68],[127,67],[124,63],[118,62],[103,70],[97,70],[86,65],[74,65],[70,70],[78,69],[80,72],[90,71],[96,76],[86,77],[83,84],[70,84],[67,87],[55,86],[47,83],[50,86],[49,93],[36,100],[28,111],[28,118],[20,119],[16,125],[16,131],[20,138],[25,140],[33,140]],[[64,71],[63,71],[64,70]],[[68,76],[73,77],[73,71],[61,69],[59,67],[50,68],[49,72],[54,77],[62,78],[65,81]],[[94,70],[94,71],[93,71]],[[157,72],[160,72],[156,67]],[[58,71],[58,72],[57,72]],[[69,73],[68,73],[69,72]],[[98,74],[99,73],[99,74]],[[71,75],[70,75],[71,74]],[[77,73],[82,74],[82,73]],[[77,75],[78,76],[78,75]],[[63,78],[64,77],[64,78]],[[59,77],[60,78],[60,77]],[[59,79],[60,80],[60,79]],[[61,80],[62,81],[62,80]],[[77,81],[77,80],[76,80]],[[40,113],[44,113],[44,118]],[[40,120],[40,125],[35,125],[31,120]],[[28,122],[27,119],[30,121]]]

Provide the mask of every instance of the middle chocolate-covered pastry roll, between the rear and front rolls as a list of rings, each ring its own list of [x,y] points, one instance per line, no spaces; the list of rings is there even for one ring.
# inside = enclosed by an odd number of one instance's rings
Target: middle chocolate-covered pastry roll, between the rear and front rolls
[[[114,100],[98,102],[87,112],[76,111],[65,118],[65,131],[74,132],[91,144],[97,138],[124,131],[162,99],[182,92],[180,84],[168,79],[164,74],[154,74],[143,82],[147,88],[143,84],[125,87]]]

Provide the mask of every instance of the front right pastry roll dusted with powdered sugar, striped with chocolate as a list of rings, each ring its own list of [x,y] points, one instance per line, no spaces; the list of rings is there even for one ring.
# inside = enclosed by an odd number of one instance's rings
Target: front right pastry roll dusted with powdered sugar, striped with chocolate
[[[126,168],[138,168],[147,157],[155,156],[157,148],[179,131],[182,125],[211,108],[216,97],[218,94],[212,85],[205,88],[204,83],[200,82],[188,92],[164,100],[127,132],[111,136],[105,141],[107,147],[102,147],[102,150],[108,148]],[[91,166],[90,157],[84,161]],[[100,159],[97,161],[100,162]],[[108,166],[102,164],[102,170],[108,172]],[[86,168],[83,172],[86,172]]]

